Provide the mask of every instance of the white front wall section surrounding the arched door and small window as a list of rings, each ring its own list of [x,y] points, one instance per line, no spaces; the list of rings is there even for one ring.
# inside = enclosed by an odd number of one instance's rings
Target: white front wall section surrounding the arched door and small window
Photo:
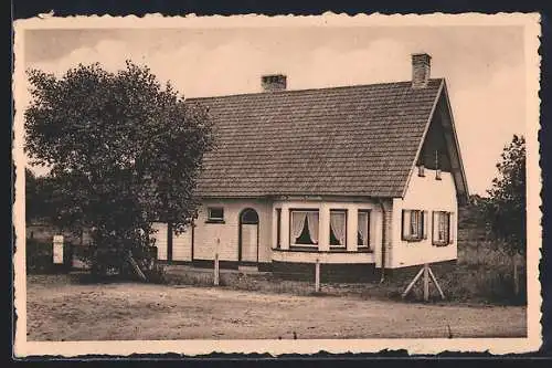
[[[224,208],[224,223],[209,223],[208,207]],[[220,239],[219,259],[237,261],[240,213],[252,208],[258,214],[258,262],[270,262],[272,218],[270,202],[255,199],[204,200],[195,220],[193,257],[213,260],[216,240]]]

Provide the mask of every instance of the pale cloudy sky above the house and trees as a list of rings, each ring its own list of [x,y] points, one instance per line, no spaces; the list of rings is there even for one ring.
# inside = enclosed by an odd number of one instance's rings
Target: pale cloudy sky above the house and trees
[[[25,69],[62,76],[78,63],[109,71],[145,64],[185,97],[261,92],[261,75],[288,90],[411,80],[411,54],[445,77],[470,193],[485,194],[513,134],[526,133],[521,27],[287,27],[26,30]],[[40,172],[40,171],[39,171]]]

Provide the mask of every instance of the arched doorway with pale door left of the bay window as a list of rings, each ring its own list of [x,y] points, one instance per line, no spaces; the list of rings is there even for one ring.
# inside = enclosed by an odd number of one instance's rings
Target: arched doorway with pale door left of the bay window
[[[252,208],[240,213],[238,256],[241,263],[258,262],[258,214]]]

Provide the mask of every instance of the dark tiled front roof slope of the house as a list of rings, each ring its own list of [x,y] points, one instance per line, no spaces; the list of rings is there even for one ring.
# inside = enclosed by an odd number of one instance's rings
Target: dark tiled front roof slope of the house
[[[443,80],[191,98],[216,148],[202,197],[401,197]]]

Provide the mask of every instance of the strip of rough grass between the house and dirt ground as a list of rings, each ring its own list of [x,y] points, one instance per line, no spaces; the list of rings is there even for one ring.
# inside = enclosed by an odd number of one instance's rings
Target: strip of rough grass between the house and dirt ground
[[[432,271],[443,288],[445,303],[524,305],[527,303],[524,261],[519,267],[520,293],[513,293],[513,257],[503,246],[492,241],[461,241],[455,265],[432,265]],[[353,295],[361,298],[402,299],[402,293],[413,274],[393,275],[383,283],[323,283],[316,292],[314,281],[282,280],[270,273],[246,274],[221,272],[220,286],[230,290],[293,295]],[[167,267],[169,284],[213,286],[212,270]],[[434,285],[429,286],[431,302],[442,303]],[[406,297],[410,302],[423,301],[422,282],[417,282]]]

